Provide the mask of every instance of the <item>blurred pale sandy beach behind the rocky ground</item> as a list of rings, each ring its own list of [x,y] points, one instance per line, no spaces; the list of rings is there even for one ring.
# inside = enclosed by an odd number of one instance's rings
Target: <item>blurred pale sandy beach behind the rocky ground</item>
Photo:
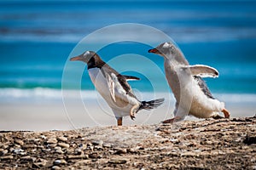
[[[82,127],[104,127],[116,124],[113,113],[106,102],[95,92],[83,92],[90,97],[79,99],[74,97],[76,92],[70,92],[65,102],[61,98],[52,99],[45,96],[34,99],[17,98],[0,102],[0,130],[72,130]],[[61,95],[61,94],[60,94]],[[150,125],[159,123],[172,117],[174,99],[171,94],[140,94],[146,99],[160,98],[164,96],[164,105],[153,111],[140,111],[136,120],[130,117],[124,118],[124,125]],[[255,115],[256,95],[253,94],[216,94],[218,99],[225,101],[231,117],[245,117]],[[96,98],[95,98],[96,97]],[[253,100],[255,99],[255,100]],[[65,104],[65,105],[64,105]],[[193,116],[187,116],[187,120],[202,121]]]

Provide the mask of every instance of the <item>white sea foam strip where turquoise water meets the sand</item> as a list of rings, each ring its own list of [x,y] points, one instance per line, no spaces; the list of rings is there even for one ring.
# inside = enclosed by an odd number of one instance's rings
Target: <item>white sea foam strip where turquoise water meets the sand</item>
[[[173,94],[163,92],[139,92],[135,91],[138,99],[149,100],[165,98],[166,102],[174,103]],[[95,90],[61,90],[51,88],[0,88],[0,102],[12,101],[51,101],[62,99],[102,99]],[[213,94],[217,99],[230,104],[256,104],[256,94]]]

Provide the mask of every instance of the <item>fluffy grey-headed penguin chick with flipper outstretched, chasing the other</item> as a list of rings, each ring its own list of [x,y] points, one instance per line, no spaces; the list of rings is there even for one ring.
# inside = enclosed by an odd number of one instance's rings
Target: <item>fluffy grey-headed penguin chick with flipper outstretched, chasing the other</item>
[[[172,42],[161,43],[148,53],[159,54],[165,59],[167,82],[176,99],[174,118],[164,121],[182,121],[185,116],[198,118],[229,118],[224,103],[214,99],[202,77],[218,77],[218,71],[207,65],[189,65],[183,53]],[[218,112],[223,112],[224,117]]]

